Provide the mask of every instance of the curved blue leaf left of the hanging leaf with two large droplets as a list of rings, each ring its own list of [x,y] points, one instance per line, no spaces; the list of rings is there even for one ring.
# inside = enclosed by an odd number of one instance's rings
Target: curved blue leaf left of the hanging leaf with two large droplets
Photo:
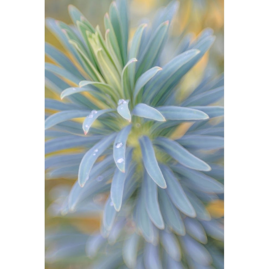
[[[110,146],[115,136],[116,134],[112,134],[105,137],[88,150],[83,156],[78,173],[78,182],[81,187],[83,187],[85,182],[89,179],[89,174],[95,161],[108,148],[108,146]]]

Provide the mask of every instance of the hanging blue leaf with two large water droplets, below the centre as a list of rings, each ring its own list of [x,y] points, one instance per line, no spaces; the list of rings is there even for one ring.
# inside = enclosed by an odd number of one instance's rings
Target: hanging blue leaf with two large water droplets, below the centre
[[[124,127],[116,136],[113,146],[114,161],[121,172],[125,172],[126,141],[132,129],[132,125]]]

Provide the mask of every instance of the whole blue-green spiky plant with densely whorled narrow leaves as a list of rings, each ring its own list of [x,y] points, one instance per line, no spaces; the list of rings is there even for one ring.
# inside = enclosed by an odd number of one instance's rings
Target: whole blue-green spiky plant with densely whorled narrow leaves
[[[224,81],[206,73],[181,96],[182,77],[215,38],[210,29],[186,35],[176,56],[162,59],[177,6],[161,9],[132,40],[126,1],[112,2],[104,36],[73,6],[73,26],[47,19],[67,54],[45,45],[55,63],[45,65],[46,86],[62,99],[45,100],[45,169],[48,178],[75,179],[58,187],[49,212],[103,215],[97,234],[48,231],[47,262],[223,268],[223,218],[206,205],[223,199],[224,109],[213,104]]]

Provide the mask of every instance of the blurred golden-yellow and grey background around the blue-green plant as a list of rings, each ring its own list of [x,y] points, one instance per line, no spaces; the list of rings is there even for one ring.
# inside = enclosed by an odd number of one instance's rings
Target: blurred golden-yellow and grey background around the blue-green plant
[[[130,36],[135,32],[135,28],[145,19],[152,19],[156,10],[169,3],[169,0],[130,0]],[[45,0],[45,17],[53,17],[67,24],[71,24],[68,15],[68,4],[76,6],[85,17],[95,27],[100,26],[104,33],[103,16],[108,11],[111,0]],[[179,10],[172,22],[170,33],[171,40],[177,40],[176,37],[185,33],[192,33],[193,38],[201,30],[210,27],[214,30],[216,40],[204,57],[196,66],[185,76],[185,88],[191,90],[198,84],[206,68],[210,68],[213,75],[217,75],[224,70],[224,0],[181,0]],[[174,38],[174,39],[173,39]],[[64,51],[57,39],[45,28],[45,41]],[[45,58],[46,62],[50,62]],[[56,98],[48,89],[45,89],[45,97]],[[94,218],[72,218],[65,219],[52,217],[50,207],[54,197],[59,197],[59,192],[65,195],[69,192],[69,187],[74,184],[76,179],[57,179],[50,180],[45,174],[45,228],[46,230],[60,230],[63,227],[72,227],[80,232],[89,234],[99,229],[100,216],[97,214]],[[216,218],[222,217],[223,201],[217,200],[209,204],[207,209],[211,215]],[[46,264],[45,268],[76,268],[72,265],[53,265]]]

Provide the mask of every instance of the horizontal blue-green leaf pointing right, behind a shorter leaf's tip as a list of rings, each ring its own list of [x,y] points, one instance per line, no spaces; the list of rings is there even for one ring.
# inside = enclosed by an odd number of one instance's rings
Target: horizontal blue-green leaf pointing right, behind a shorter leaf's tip
[[[198,109],[181,106],[159,106],[158,111],[166,120],[206,120],[209,116]]]

